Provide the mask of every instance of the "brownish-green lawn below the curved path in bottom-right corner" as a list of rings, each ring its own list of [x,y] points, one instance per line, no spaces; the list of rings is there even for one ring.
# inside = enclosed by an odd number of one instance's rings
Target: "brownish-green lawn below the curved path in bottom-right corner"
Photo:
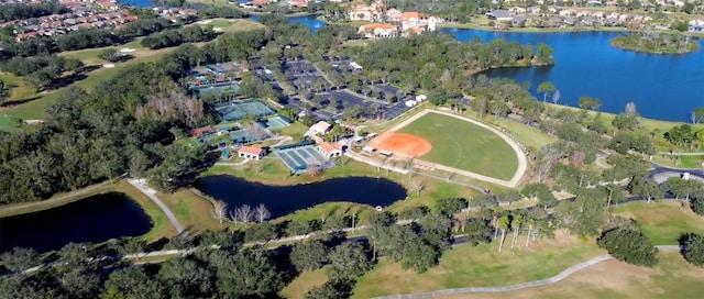
[[[560,283],[543,287],[509,292],[455,295],[438,298],[689,299],[702,296],[704,268],[690,265],[679,253],[674,252],[660,253],[659,257],[660,264],[654,268],[637,267],[612,259],[580,270]]]

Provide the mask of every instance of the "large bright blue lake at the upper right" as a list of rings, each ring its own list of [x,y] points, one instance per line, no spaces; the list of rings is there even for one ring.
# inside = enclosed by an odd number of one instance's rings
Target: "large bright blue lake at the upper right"
[[[459,41],[484,42],[506,38],[521,44],[546,43],[554,49],[551,67],[502,68],[485,71],[490,77],[530,81],[536,92],[542,81],[560,90],[559,103],[578,106],[579,98],[602,100],[601,110],[618,113],[635,102],[647,118],[689,121],[695,107],[704,107],[704,52],[660,55],[628,52],[609,45],[609,40],[627,33],[513,33],[462,29],[440,29]],[[703,41],[698,41],[704,46]]]

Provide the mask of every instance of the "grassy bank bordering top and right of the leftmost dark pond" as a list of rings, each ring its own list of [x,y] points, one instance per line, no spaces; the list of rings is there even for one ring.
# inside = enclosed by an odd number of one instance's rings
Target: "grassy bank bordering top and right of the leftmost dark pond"
[[[0,218],[48,210],[59,206],[70,204],[72,202],[87,199],[92,196],[109,193],[109,192],[124,193],[129,198],[136,201],[140,204],[140,207],[142,207],[142,210],[144,210],[144,212],[150,217],[150,219],[152,220],[153,228],[148,233],[141,236],[143,240],[147,242],[153,242],[163,236],[176,235],[176,229],[172,226],[172,223],[168,221],[164,212],[162,212],[162,210],[156,206],[156,203],[154,203],[148,197],[146,197],[140,190],[132,187],[125,180],[117,180],[114,184],[107,184],[103,186],[99,186],[97,188],[90,189],[85,193],[73,196],[73,197],[66,197],[59,201],[52,201],[51,199],[48,199],[47,201],[44,201],[46,202],[45,204],[32,204],[31,207],[28,207],[28,208],[20,208],[20,209],[12,209],[12,210],[8,210],[7,208],[18,207],[18,206],[22,207],[24,204],[3,206],[2,208],[0,208]],[[63,196],[64,195],[56,195],[55,197],[63,197]]]

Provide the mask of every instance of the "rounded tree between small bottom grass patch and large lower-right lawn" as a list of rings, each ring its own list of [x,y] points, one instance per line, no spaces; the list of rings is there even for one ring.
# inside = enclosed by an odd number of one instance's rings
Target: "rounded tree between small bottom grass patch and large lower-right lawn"
[[[328,255],[330,269],[328,276],[331,280],[353,280],[372,268],[373,264],[367,252],[359,243],[344,242]]]

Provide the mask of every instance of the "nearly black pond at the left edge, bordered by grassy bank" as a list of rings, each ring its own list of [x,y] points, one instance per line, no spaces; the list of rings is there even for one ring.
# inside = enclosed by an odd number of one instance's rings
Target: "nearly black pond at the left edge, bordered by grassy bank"
[[[15,246],[37,252],[69,242],[99,243],[147,233],[153,224],[140,204],[123,193],[105,193],[54,209],[0,219],[0,252]]]

